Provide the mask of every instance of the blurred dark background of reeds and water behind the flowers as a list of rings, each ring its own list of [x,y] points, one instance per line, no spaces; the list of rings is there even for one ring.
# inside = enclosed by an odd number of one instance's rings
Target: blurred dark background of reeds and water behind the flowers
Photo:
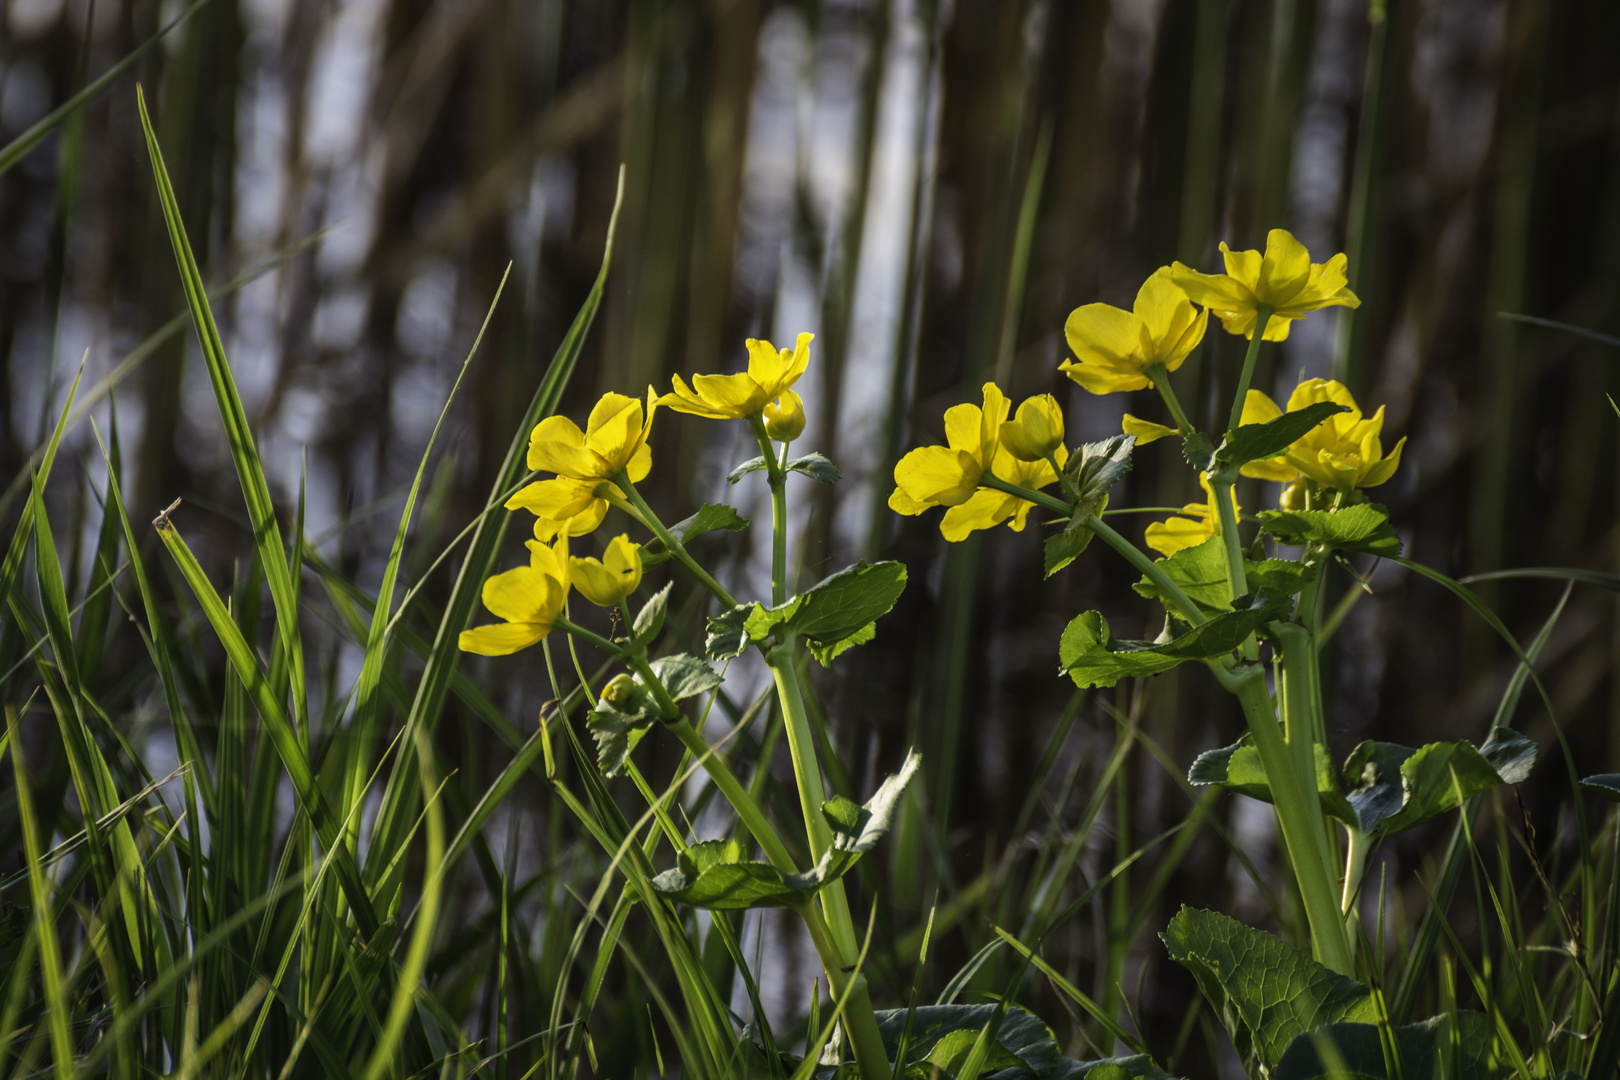
[[[181,10],[10,0],[0,141]],[[1056,372],[1074,306],[1128,306],[1157,266],[1217,269],[1217,241],[1264,246],[1272,227],[1319,261],[1348,251],[1361,309],[1296,324],[1264,351],[1259,385],[1285,395],[1299,376],[1332,376],[1369,411],[1385,406],[1385,445],[1409,442],[1377,499],[1408,555],[1452,575],[1617,568],[1620,421],[1605,393],[1620,389],[1620,351],[1500,317],[1620,332],[1617,55],[1612,0],[211,0],[0,176],[0,474],[21,473],[87,350],[81,392],[115,381],[92,415],[105,432],[117,403],[131,517],[178,495],[212,567],[246,551],[190,327],[143,345],[183,298],[136,79],[207,280],[271,262],[217,301],[227,348],[277,500],[290,513],[306,468],[308,533],[363,583],[510,262],[429,471],[418,572],[483,505],[596,274],[622,164],[612,277],[564,411],[583,419],[604,390],[735,369],[747,335],[816,332],[799,445],[846,479],[795,489],[792,552],[805,581],[855,557],[910,567],[878,640],[821,682],[857,787],[907,745],[925,753],[919,813],[933,827],[896,842],[885,879],[909,926],[936,889],[943,904],[1027,855],[1009,832],[1029,826],[1017,816],[1035,759],[1072,703],[1055,664],[1064,622],[1102,607],[1121,635],[1157,630],[1106,551],[1043,583],[1034,528],[946,546],[933,515],[883,508],[897,455],[936,440],[943,410],[977,400],[985,379],[1014,400],[1058,393],[1071,440],[1118,431],[1128,408],[1160,416],[1147,395],[1095,398]],[[1225,410],[1239,359],[1239,342],[1212,329],[1176,376],[1196,421]],[[659,508],[682,517],[726,494],[744,434],[661,415]],[[70,450],[102,468],[87,426]],[[765,512],[763,486],[735,495]],[[1113,505],[1194,495],[1166,442],[1137,453]],[[1264,507],[1275,489],[1239,495]],[[1140,536],[1144,518],[1116,521]],[[765,539],[710,554],[727,580],[758,585],[768,551],[748,544]],[[1511,656],[1439,586],[1395,565],[1371,575],[1327,661],[1335,753],[1369,737],[1479,738]],[[1481,594],[1528,640],[1558,586]],[[1541,664],[1581,772],[1620,766],[1614,620],[1610,594],[1578,591]],[[514,716],[549,696],[520,664],[473,670]],[[1533,699],[1518,727],[1549,753],[1524,798],[1552,848],[1573,842],[1568,782]],[[1241,724],[1202,672],[1077,706],[1042,819],[1079,814],[1119,738],[1110,709],[1178,767]],[[454,755],[478,735],[441,738]],[[1129,777],[1087,850],[1092,873],[1189,805],[1150,755],[1129,759]],[[1218,816],[1264,861],[1268,814],[1234,806]],[[1413,915],[1411,871],[1437,829],[1385,845]],[[1246,889],[1225,848],[1200,840],[1147,931],[1183,899],[1265,921]],[[941,972],[985,939],[993,904],[993,889],[964,900]],[[1059,944],[1090,986],[1106,920],[1079,926]],[[1160,946],[1142,933],[1131,957],[1134,999]],[[1149,980],[1145,1025],[1174,1028],[1183,983],[1166,973],[1155,994]]]

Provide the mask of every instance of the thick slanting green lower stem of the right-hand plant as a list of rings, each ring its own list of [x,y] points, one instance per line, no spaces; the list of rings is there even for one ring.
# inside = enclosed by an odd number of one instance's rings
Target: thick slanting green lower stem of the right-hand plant
[[[1288,743],[1277,724],[1272,698],[1265,691],[1265,674],[1252,664],[1226,670],[1218,661],[1210,661],[1209,667],[1215,672],[1215,678],[1238,698],[1243,714],[1249,721],[1249,735],[1260,755],[1260,766],[1265,769],[1272,801],[1277,808],[1277,821],[1283,831],[1283,842],[1288,845],[1288,857],[1294,865],[1299,894],[1304,897],[1312,952],[1317,960],[1340,975],[1353,975],[1345,916],[1333,892],[1333,874],[1324,860],[1325,842],[1312,834],[1306,793],[1299,787]],[[1315,800],[1315,790],[1311,792],[1311,798]],[[1320,818],[1320,806],[1317,806],[1317,816]]]

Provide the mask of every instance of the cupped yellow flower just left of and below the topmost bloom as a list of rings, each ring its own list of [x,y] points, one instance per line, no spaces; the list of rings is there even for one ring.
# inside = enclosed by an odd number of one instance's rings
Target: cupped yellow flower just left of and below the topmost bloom
[[[1199,311],[1171,280],[1170,267],[1153,272],[1136,295],[1132,311],[1085,304],[1063,325],[1076,359],[1058,364],[1092,393],[1142,390],[1152,385],[1147,369],[1174,371],[1204,340],[1209,313]]]

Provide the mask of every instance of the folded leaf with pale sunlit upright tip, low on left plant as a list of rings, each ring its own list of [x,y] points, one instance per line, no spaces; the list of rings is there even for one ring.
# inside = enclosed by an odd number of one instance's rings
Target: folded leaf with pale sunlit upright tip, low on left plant
[[[920,763],[917,751],[907,753],[901,771],[883,780],[863,806],[857,808],[849,800],[833,800],[823,806],[833,824],[833,844],[802,874],[745,860],[744,848],[735,840],[708,840],[682,852],[674,868],[653,879],[653,889],[679,904],[716,912],[800,907],[847,874],[888,834],[901,793]]]

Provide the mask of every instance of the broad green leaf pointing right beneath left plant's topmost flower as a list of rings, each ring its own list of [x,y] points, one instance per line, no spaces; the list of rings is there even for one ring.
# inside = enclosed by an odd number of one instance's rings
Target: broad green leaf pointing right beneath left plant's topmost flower
[[[782,628],[805,638],[816,659],[826,664],[849,646],[870,641],[876,633],[872,623],[886,615],[904,591],[906,567],[902,563],[893,560],[867,563],[862,560],[776,607],[753,604],[735,610],[747,612],[742,617],[742,633],[747,641],[765,641],[778,628]],[[711,641],[716,641],[708,649],[711,657],[719,659],[724,656],[724,649],[732,648],[729,636],[732,622],[735,622],[734,612],[710,619],[710,636]],[[716,627],[716,623],[719,625]],[[721,653],[716,653],[716,648]],[[737,653],[740,651],[739,644]]]

